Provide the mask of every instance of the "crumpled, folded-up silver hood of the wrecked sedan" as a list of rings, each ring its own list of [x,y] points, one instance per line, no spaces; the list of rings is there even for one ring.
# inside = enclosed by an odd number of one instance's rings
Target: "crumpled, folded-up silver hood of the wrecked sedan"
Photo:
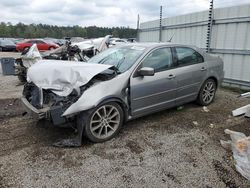
[[[27,81],[59,96],[68,96],[73,89],[87,84],[95,75],[112,65],[76,61],[40,60],[28,69]]]

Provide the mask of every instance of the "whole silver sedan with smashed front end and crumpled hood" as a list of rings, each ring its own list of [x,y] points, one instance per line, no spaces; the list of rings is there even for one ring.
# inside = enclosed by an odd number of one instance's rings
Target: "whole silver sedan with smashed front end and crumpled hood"
[[[75,122],[93,142],[113,138],[122,124],[191,101],[209,105],[223,62],[193,46],[126,44],[87,63],[41,60],[27,73],[22,102],[37,119]]]

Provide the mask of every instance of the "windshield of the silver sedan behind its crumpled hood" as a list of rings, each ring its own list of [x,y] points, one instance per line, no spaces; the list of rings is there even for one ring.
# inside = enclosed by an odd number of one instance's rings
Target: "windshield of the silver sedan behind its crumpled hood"
[[[92,57],[88,63],[114,65],[122,73],[127,71],[136,62],[144,50],[144,47],[139,46],[110,48]]]

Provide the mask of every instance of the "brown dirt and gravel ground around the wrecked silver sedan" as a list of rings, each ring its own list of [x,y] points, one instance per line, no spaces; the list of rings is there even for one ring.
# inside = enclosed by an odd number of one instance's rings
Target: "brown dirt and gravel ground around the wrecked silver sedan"
[[[220,89],[209,112],[191,103],[128,122],[105,143],[55,148],[73,130],[23,117],[18,81],[0,81],[0,187],[250,186],[219,143],[225,128],[250,135],[250,120],[230,115],[250,103],[237,93]]]

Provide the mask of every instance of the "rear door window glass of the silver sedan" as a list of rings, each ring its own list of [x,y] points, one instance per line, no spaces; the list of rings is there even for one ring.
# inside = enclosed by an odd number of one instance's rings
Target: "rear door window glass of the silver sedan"
[[[202,55],[199,54],[197,51],[193,50],[192,48],[176,47],[175,50],[179,66],[204,62]]]

